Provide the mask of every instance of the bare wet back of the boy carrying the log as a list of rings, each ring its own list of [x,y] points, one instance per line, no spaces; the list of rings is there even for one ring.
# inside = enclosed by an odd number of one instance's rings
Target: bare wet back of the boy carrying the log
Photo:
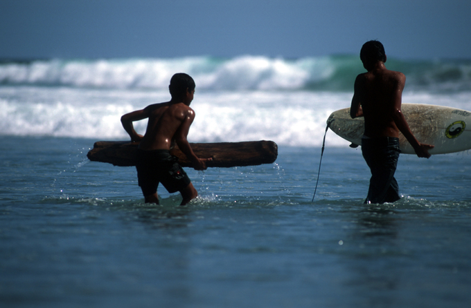
[[[147,106],[143,112],[148,115],[148,126],[139,144],[139,148],[143,150],[170,150],[178,135],[184,133],[184,123],[189,121],[189,129],[194,119],[193,109],[183,103],[153,104]]]

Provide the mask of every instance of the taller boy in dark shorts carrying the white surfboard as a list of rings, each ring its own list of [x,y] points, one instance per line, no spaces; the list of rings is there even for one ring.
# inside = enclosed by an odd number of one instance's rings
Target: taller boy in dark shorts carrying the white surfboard
[[[411,132],[401,111],[406,77],[386,69],[386,54],[380,41],[367,41],[359,57],[368,72],[355,79],[350,117],[364,117],[362,154],[371,170],[365,203],[395,202],[400,199],[394,178],[400,153],[399,132],[418,157],[429,158],[428,151],[434,146],[421,144]]]

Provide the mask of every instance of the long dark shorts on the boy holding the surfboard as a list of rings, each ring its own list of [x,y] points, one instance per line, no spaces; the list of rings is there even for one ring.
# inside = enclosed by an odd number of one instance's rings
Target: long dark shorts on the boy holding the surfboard
[[[371,170],[365,203],[395,202],[400,199],[398,182],[394,178],[399,153],[398,138],[362,139],[362,154]]]

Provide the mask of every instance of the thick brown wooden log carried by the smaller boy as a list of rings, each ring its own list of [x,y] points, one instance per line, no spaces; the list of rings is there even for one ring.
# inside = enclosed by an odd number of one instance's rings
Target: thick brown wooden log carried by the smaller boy
[[[114,166],[136,166],[138,142],[98,141],[87,157],[93,162],[108,162]],[[197,157],[213,160],[206,162],[208,167],[256,166],[271,164],[278,156],[275,142],[260,140],[249,142],[190,143]],[[192,167],[186,155],[177,146],[170,154],[179,158],[181,166]]]

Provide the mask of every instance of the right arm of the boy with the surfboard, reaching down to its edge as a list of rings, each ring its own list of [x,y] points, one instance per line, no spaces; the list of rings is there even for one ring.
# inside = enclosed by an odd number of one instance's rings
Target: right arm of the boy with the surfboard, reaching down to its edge
[[[414,148],[414,151],[416,151],[417,156],[429,158],[431,156],[429,154],[429,149],[434,148],[434,146],[418,142],[414,133],[412,133],[411,128],[409,128],[409,124],[407,124],[407,120],[401,110],[402,90],[404,90],[405,79],[405,75],[400,73],[398,84],[393,92],[393,120],[399,131],[404,135],[404,137],[406,137],[409,144]]]

